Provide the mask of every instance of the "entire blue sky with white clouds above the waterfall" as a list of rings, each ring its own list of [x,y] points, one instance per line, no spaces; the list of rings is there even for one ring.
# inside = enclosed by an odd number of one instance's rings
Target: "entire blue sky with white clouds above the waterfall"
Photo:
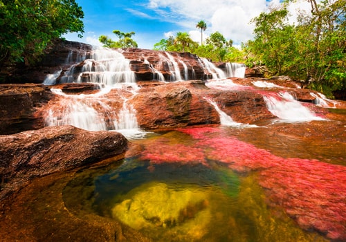
[[[300,0],[303,1],[303,0]],[[65,35],[68,40],[99,44],[98,37],[107,35],[117,40],[113,30],[134,31],[138,48],[152,49],[161,39],[176,32],[188,32],[194,41],[201,41],[196,28],[206,21],[203,39],[219,31],[236,46],[253,38],[253,17],[277,6],[280,0],[76,0],[84,11],[84,37]],[[307,3],[307,1],[305,0]],[[308,3],[309,4],[309,3]]]

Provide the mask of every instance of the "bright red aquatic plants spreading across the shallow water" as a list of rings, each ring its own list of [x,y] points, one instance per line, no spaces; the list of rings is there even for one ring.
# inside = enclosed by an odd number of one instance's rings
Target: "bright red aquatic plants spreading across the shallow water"
[[[258,171],[259,183],[272,206],[306,230],[317,230],[329,239],[346,240],[346,167],[319,160],[282,158],[265,149],[237,140],[217,127],[179,129],[194,142],[170,144],[158,139],[146,146],[143,159],[161,162],[217,160],[238,172]],[[150,167],[153,169],[154,167]]]

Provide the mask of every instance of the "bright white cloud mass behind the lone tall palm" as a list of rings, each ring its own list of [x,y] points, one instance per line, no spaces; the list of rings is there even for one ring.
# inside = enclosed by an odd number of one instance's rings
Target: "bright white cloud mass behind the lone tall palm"
[[[204,20],[207,29],[203,35],[219,31],[237,45],[253,38],[254,26],[250,24],[251,19],[268,10],[270,6],[280,4],[280,0],[149,0],[147,8],[154,10],[156,15],[161,15],[161,19],[181,26],[181,31],[189,32],[194,41],[201,41],[201,34],[199,32],[197,35],[198,30],[195,27],[198,21]],[[291,5],[289,10],[310,10],[306,0],[298,0]],[[293,15],[294,18],[296,16]]]

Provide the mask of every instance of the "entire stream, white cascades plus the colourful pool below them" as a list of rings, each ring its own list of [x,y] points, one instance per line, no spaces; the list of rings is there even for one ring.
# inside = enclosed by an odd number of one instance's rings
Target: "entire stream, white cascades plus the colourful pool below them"
[[[346,197],[345,143],[341,138],[312,142],[277,132],[283,122],[298,131],[309,129],[304,122],[327,120],[288,92],[265,93],[268,111],[280,122],[262,127],[239,124],[206,99],[219,113],[221,125],[145,133],[128,102],[139,90],[129,62],[116,51],[102,51],[83,57],[78,75],[80,64],[47,77],[46,84],[54,84],[58,75],[63,75],[62,82],[100,84],[102,94],[66,95],[52,89],[62,97],[61,109],[49,110],[46,124],[120,131],[132,139],[131,147],[116,165],[75,174],[62,192],[67,210],[80,219],[86,219],[81,214],[97,214],[120,221],[153,241],[340,237],[346,222],[346,205],[338,202]],[[162,57],[172,74],[170,81],[188,80],[187,69],[179,71],[180,62],[169,53]],[[207,59],[200,62],[214,79],[206,83],[210,89],[251,89],[225,80],[229,75],[244,76],[243,65],[229,64],[224,73]],[[162,73],[154,72],[165,81]],[[127,93],[118,110],[104,97],[113,89]],[[325,102],[329,101],[322,96],[318,99],[321,106]]]

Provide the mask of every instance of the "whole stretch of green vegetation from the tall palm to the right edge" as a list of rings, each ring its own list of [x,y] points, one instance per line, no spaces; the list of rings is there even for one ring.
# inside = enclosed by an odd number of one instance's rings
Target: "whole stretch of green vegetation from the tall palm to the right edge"
[[[346,92],[346,1],[306,0],[311,11],[301,11],[297,21],[290,23],[288,7],[293,1],[285,0],[280,8],[252,19],[255,37],[242,43],[242,48],[235,48],[220,32],[210,34],[205,45],[179,32],[161,39],[154,49],[260,66],[266,76],[288,75],[328,97],[336,90]],[[206,30],[206,25],[198,23],[197,28]]]

